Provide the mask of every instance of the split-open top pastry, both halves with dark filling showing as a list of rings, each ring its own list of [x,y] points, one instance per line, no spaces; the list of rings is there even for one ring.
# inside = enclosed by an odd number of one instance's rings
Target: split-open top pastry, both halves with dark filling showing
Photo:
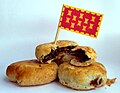
[[[79,46],[74,41],[59,40],[56,45],[45,43],[36,47],[35,55],[41,63],[70,62],[75,66],[88,66],[96,59],[96,52],[89,46]]]

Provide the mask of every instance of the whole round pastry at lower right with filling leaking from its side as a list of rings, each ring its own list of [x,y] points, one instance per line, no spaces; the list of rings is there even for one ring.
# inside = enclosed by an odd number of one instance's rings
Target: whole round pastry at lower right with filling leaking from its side
[[[59,82],[76,90],[91,90],[105,85],[106,74],[105,67],[98,62],[85,67],[76,67],[65,62],[58,68]]]

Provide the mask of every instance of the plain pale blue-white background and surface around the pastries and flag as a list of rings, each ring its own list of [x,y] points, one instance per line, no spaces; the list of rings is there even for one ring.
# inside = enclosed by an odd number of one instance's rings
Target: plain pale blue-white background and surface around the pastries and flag
[[[9,64],[35,58],[38,44],[54,41],[63,4],[104,14],[97,39],[61,30],[59,39],[69,39],[93,47],[97,61],[108,77],[117,77],[111,87],[75,91],[58,82],[44,86],[19,87],[8,81]],[[0,0],[0,93],[119,93],[120,88],[120,2],[119,0]]]

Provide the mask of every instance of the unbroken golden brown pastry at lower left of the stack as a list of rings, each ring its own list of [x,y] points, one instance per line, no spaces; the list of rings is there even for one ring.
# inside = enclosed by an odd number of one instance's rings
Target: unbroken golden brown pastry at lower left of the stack
[[[50,83],[57,77],[55,62],[41,64],[37,60],[25,60],[8,66],[6,75],[10,81],[20,86],[33,86]]]

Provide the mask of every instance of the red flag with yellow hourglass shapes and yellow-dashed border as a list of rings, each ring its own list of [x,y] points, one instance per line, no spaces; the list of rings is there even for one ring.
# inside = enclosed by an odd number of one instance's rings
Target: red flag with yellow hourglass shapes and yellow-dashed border
[[[99,13],[63,5],[59,28],[96,38],[102,17]]]

